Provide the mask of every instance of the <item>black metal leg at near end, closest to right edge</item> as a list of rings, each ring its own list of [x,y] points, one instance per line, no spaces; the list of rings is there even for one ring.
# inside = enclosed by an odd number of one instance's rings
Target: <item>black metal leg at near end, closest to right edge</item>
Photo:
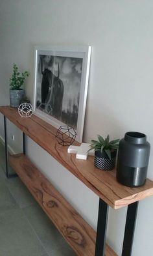
[[[132,253],[132,245],[134,240],[134,229],[135,229],[135,221],[137,218],[138,203],[139,202],[135,202],[128,205],[122,256],[130,256]]]

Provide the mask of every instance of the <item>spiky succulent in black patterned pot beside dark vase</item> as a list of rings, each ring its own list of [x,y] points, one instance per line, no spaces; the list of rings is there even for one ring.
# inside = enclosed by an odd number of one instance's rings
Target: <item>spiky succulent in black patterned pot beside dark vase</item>
[[[100,170],[112,170],[115,167],[115,158],[119,147],[119,139],[110,141],[108,135],[106,139],[97,135],[98,140],[91,140],[91,149],[95,150],[94,164]],[[89,149],[89,150],[91,150]]]

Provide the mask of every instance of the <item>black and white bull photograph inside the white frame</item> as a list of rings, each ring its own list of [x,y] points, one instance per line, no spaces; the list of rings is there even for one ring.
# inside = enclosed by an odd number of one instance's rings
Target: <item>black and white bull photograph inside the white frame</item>
[[[82,58],[39,55],[36,107],[77,128]]]

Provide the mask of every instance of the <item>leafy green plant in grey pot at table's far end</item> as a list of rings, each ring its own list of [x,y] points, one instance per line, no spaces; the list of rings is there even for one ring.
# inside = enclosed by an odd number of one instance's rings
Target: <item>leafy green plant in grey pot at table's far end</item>
[[[23,83],[25,82],[25,78],[30,75],[28,71],[23,73],[19,73],[18,66],[14,64],[13,66],[13,74],[10,78],[10,106],[11,107],[19,107],[21,99],[24,95],[24,90],[21,88]]]

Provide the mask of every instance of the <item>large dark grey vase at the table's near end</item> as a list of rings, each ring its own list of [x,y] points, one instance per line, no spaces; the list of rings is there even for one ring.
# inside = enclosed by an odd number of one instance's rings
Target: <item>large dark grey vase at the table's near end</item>
[[[147,136],[140,132],[126,132],[119,143],[117,180],[129,187],[145,184],[150,155]]]

